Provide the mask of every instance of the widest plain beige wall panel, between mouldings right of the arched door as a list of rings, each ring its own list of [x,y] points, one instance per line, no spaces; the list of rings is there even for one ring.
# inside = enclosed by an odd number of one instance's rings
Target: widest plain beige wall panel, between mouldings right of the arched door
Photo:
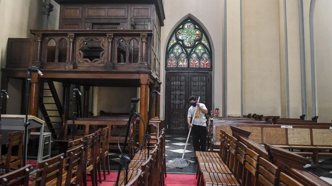
[[[278,0],[243,1],[243,69],[244,114],[280,115]]]

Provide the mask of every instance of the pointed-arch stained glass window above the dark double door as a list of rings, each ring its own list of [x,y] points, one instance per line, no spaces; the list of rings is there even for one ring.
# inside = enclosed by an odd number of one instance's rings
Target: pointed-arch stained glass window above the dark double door
[[[166,69],[212,70],[210,42],[202,27],[192,19],[180,23],[166,50]]]

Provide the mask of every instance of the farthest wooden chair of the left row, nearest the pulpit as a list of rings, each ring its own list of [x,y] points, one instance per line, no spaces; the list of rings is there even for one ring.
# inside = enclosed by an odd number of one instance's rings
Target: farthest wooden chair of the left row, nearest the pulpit
[[[101,167],[104,173],[104,179],[106,179],[107,174],[110,174],[109,168],[109,152],[108,152],[108,139],[109,138],[109,127],[105,127],[101,130],[101,146],[100,146],[100,161]]]

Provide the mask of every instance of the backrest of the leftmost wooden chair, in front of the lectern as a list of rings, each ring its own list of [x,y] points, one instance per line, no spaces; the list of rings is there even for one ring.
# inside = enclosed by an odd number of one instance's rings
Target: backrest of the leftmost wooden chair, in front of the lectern
[[[22,154],[23,154],[23,131],[16,131],[16,132],[12,132],[12,133],[7,133],[8,139],[7,139],[7,144],[6,147],[8,147],[8,151],[7,151],[7,157],[6,157],[6,164],[10,164],[10,160],[11,160],[11,156],[13,156],[12,154],[12,150],[13,147],[18,148],[17,151],[17,161],[21,161],[22,162]]]

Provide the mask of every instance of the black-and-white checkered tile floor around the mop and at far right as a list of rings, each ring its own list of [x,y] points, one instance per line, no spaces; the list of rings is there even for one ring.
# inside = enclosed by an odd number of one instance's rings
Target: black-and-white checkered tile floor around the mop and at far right
[[[166,135],[166,161],[171,161],[174,158],[181,158],[183,150],[185,148],[187,136],[185,135]],[[184,159],[191,161],[192,163],[189,167],[178,169],[178,168],[169,168],[167,167],[167,172],[169,173],[192,173],[196,174],[197,170],[197,160],[191,159],[190,157],[194,154],[194,147],[192,144],[192,137],[190,136],[187,145],[187,150],[185,153]],[[332,159],[320,159],[320,167],[311,166],[307,164],[305,166],[306,170],[317,175],[321,179],[332,184]]]

